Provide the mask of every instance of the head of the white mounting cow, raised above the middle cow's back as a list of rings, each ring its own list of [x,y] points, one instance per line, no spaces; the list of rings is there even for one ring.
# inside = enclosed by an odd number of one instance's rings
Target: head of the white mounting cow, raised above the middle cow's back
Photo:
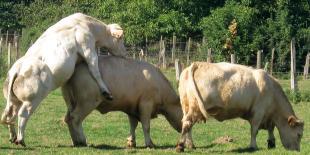
[[[101,46],[107,48],[112,55],[125,57],[127,52],[123,29],[118,24],[109,24],[106,31],[106,38],[100,41]]]

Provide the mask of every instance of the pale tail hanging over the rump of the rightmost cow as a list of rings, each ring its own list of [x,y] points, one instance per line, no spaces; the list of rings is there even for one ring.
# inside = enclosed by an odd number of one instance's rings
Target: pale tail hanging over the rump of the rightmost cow
[[[191,82],[192,88],[194,88],[193,89],[193,93],[194,93],[194,96],[195,96],[195,98],[197,100],[199,110],[202,113],[202,115],[205,117],[205,119],[207,119],[208,118],[208,114],[207,114],[207,111],[206,111],[206,109],[204,107],[202,98],[199,95],[199,91],[198,91],[198,88],[197,88],[195,80],[194,80],[194,72],[195,72],[195,70],[197,68],[198,68],[198,64],[192,63],[192,65],[190,66],[190,70],[189,70],[189,74],[190,74],[189,75],[189,81]]]

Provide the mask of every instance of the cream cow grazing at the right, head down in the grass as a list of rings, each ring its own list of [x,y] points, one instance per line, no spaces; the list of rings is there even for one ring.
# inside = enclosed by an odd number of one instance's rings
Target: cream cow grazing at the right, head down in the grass
[[[268,148],[275,147],[274,127],[283,146],[300,150],[303,121],[299,120],[280,84],[263,70],[229,63],[194,62],[180,77],[183,110],[178,152],[184,151],[185,135],[197,121],[240,117],[251,125],[250,149],[257,149],[259,129],[268,130]]]

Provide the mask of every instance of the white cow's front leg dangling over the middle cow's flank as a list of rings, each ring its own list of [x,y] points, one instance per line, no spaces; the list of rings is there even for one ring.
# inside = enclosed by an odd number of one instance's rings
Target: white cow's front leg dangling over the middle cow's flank
[[[92,75],[92,77],[96,80],[97,84],[99,85],[101,94],[106,99],[112,100],[113,96],[100,76],[99,66],[98,66],[98,55],[95,49],[87,48],[84,50],[84,53],[82,55],[88,65],[90,74]]]

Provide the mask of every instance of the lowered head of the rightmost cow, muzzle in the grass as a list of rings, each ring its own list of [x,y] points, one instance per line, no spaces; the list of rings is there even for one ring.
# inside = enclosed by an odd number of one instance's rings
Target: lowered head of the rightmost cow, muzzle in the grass
[[[287,124],[280,127],[280,137],[283,146],[288,150],[300,150],[300,140],[303,135],[304,122],[295,116],[289,116]]]

